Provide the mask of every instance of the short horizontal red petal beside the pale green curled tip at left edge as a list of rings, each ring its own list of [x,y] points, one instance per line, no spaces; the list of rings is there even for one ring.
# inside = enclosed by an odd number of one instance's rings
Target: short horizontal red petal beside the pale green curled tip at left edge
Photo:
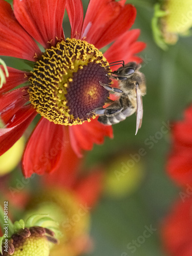
[[[2,65],[0,65],[0,67],[2,70],[4,70]],[[0,94],[8,92],[9,90],[15,88],[19,84],[27,82],[28,76],[30,75],[28,72],[20,71],[10,67],[7,67],[7,69],[9,72],[9,77],[6,77],[6,83],[3,84],[3,87],[0,89]]]

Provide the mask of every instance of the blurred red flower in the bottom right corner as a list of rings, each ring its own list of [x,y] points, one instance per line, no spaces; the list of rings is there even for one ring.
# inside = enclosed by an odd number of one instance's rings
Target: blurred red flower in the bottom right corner
[[[192,199],[174,205],[162,226],[162,239],[170,256],[192,255]]]

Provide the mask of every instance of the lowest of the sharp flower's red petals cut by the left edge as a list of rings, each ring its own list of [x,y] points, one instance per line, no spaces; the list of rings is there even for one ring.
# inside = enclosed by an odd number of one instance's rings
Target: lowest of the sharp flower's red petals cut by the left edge
[[[0,155],[9,150],[23,135],[36,114],[32,105],[23,106],[12,117],[12,122],[10,122],[8,128],[0,129]]]

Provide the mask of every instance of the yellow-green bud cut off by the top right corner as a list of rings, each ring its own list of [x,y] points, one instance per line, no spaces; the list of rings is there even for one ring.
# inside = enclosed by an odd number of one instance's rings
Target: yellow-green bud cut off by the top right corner
[[[156,43],[163,49],[175,44],[178,35],[189,34],[192,26],[192,0],[164,0],[155,5],[152,28]]]

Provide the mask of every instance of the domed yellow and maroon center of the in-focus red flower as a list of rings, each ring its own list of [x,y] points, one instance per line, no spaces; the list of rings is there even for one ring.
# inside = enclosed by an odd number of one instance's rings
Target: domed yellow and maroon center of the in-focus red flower
[[[56,124],[81,124],[95,118],[92,110],[104,105],[109,92],[108,61],[86,41],[67,38],[46,49],[29,78],[30,101],[36,111]]]

